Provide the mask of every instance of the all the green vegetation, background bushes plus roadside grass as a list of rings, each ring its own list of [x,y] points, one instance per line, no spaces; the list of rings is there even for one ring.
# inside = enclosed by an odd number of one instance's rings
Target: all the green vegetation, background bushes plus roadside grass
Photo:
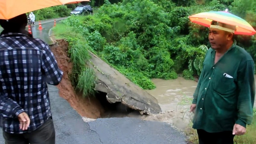
[[[154,89],[152,78],[175,79],[181,74],[193,80],[195,75],[200,75],[205,52],[210,46],[208,28],[191,23],[188,16],[226,8],[256,28],[256,1],[253,0],[123,0],[117,4],[105,0],[94,15],[71,16],[53,31],[57,38],[65,38],[70,44],[70,57],[77,63],[70,79],[74,87],[84,91],[84,96],[92,92],[95,81],[91,70],[87,75],[84,73],[88,68],[83,69],[85,63],[81,60],[88,62],[86,50],[141,88]],[[251,36],[235,38],[256,60],[256,39]],[[184,105],[190,100],[182,102]],[[255,125],[256,122],[249,125],[244,136],[235,137],[236,144],[256,143]],[[187,134],[189,141],[196,143],[196,131],[189,127]]]

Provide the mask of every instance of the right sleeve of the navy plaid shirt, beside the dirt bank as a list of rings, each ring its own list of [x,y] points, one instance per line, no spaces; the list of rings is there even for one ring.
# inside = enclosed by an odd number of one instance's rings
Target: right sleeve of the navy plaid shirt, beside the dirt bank
[[[51,85],[58,85],[62,79],[63,72],[60,70],[48,45],[44,45],[41,60],[43,73],[46,75],[45,81]]]

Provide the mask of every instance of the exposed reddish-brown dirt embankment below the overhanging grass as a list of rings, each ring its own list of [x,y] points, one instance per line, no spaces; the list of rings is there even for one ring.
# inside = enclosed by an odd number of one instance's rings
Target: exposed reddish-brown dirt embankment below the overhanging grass
[[[72,108],[74,108],[81,116],[87,118],[99,118],[104,109],[100,102],[95,98],[82,98],[81,94],[77,94],[68,79],[71,73],[72,63],[67,56],[68,43],[64,40],[57,40],[58,44],[51,46],[51,50],[55,55],[60,69],[64,72],[63,78],[57,87],[59,88],[60,97],[67,100]]]

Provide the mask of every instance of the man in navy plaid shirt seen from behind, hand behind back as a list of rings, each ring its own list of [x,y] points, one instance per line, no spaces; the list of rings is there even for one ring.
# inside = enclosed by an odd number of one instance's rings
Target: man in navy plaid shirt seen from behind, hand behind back
[[[28,36],[26,14],[0,20],[0,114],[5,144],[54,144],[47,84],[63,72],[49,46]]]

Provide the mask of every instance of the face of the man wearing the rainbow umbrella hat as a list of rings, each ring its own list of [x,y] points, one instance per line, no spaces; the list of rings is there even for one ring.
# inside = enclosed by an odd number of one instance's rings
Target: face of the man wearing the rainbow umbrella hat
[[[216,50],[225,46],[230,36],[228,36],[228,33],[224,30],[209,28],[208,39],[212,49]]]

